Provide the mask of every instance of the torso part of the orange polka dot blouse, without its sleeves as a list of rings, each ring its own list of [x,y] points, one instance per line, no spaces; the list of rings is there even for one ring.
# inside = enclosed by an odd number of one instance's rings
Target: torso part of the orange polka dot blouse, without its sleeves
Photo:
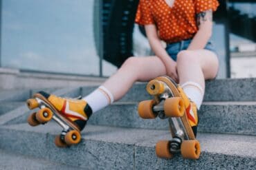
[[[194,36],[198,28],[192,0],[175,0],[172,7],[165,0],[152,1],[150,8],[160,39],[170,43]]]

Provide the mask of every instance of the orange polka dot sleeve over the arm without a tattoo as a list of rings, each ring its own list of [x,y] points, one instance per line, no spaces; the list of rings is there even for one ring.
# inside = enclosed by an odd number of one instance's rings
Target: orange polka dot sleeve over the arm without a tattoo
[[[140,0],[140,3],[138,3],[135,22],[139,25],[148,25],[154,23],[149,0]]]

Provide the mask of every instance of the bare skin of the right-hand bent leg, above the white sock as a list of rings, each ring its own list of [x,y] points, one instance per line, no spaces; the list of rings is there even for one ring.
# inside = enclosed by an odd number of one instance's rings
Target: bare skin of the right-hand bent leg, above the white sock
[[[205,80],[217,75],[219,61],[210,50],[184,50],[177,57],[179,83],[192,81],[205,89]]]

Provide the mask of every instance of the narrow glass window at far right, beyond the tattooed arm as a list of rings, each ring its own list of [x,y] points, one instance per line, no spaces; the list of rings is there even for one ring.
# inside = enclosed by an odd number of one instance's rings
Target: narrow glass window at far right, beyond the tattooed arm
[[[229,3],[231,78],[256,77],[256,3]]]

